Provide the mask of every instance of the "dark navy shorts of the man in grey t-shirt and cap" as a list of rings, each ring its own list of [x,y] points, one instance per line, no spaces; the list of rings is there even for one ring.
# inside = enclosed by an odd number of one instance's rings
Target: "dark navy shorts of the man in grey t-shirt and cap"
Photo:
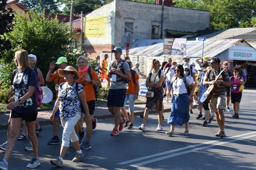
[[[109,89],[108,107],[123,107],[126,97],[126,89]]]

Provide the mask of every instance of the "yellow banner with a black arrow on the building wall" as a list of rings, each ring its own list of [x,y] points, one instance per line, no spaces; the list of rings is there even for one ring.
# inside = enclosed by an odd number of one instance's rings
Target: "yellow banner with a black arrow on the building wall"
[[[105,16],[85,17],[85,38],[105,37]]]

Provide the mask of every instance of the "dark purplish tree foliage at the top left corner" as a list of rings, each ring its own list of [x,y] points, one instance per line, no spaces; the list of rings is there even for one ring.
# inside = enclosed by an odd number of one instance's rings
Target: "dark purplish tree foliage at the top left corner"
[[[6,1],[7,0],[3,0],[0,2],[0,51],[11,48],[10,41],[6,40],[3,35],[5,32],[7,33],[12,30],[12,22],[14,18],[12,8],[10,6],[5,8]],[[0,58],[2,58],[1,55]]]

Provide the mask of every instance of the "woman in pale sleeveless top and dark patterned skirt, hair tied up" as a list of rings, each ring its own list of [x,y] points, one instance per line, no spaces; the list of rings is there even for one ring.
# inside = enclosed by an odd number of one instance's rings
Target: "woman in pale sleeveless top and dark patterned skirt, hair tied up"
[[[154,96],[152,98],[147,98],[146,100],[146,109],[143,117],[143,124],[139,127],[139,130],[145,132],[145,125],[148,119],[148,113],[151,109],[156,109],[158,113],[158,126],[157,131],[162,131],[162,102],[163,102],[163,81],[164,76],[163,72],[159,70],[161,67],[160,62],[156,59],[152,61],[151,67],[153,68],[150,73],[147,75],[146,87],[154,91]]]

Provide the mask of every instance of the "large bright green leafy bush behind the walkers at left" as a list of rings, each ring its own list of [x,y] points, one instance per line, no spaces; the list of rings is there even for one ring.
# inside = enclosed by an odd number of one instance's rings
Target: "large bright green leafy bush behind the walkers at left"
[[[37,56],[36,66],[44,77],[49,70],[49,63],[57,61],[58,57],[65,56],[70,51],[67,47],[71,43],[71,26],[59,22],[57,17],[45,17],[44,10],[33,8],[22,16],[15,14],[15,22],[12,31],[4,33],[12,48],[0,51],[3,56],[0,61],[2,87],[10,86],[11,73],[15,69],[13,57],[17,49],[24,49]],[[68,60],[75,61],[76,58],[71,57]]]

